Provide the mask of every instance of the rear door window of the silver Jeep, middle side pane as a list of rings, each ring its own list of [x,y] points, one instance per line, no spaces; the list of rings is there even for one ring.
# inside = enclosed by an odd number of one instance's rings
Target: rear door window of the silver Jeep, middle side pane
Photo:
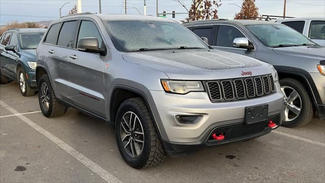
[[[77,28],[77,21],[64,22],[59,33],[57,45],[72,48]]]

